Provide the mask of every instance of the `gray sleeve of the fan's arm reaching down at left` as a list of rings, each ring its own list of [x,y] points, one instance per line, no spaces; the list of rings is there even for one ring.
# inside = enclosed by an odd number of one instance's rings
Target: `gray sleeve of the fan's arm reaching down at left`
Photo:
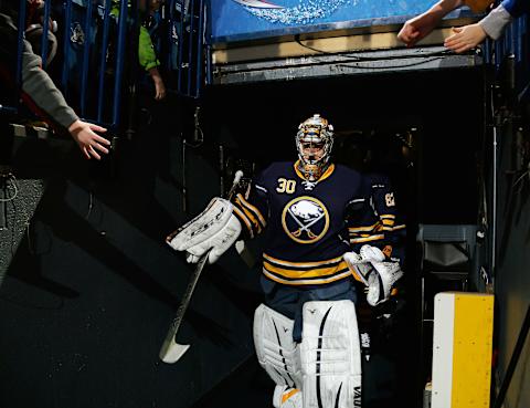
[[[78,116],[68,106],[47,73],[41,69],[41,57],[24,41],[22,54],[22,91],[61,126],[68,128]]]

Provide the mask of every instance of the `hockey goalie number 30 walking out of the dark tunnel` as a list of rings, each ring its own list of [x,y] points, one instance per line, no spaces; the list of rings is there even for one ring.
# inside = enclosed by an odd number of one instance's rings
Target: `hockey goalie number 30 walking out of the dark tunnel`
[[[215,262],[236,240],[266,233],[254,344],[276,384],[277,408],[361,407],[356,302],[385,302],[402,276],[385,238],[395,224],[392,191],[330,161],[333,127],[320,115],[296,134],[298,159],[274,163],[230,200],[213,199],[167,238],[189,262]]]

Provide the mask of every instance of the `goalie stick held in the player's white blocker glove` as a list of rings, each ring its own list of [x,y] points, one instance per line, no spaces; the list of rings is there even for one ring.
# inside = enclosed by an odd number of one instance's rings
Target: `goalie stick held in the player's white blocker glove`
[[[243,171],[237,170],[235,172],[234,182],[232,184],[232,188],[230,189],[230,192],[229,192],[229,199],[232,197],[235,190],[235,187],[237,186],[242,177],[243,177]],[[204,265],[206,264],[208,255],[210,254],[210,251],[211,249],[209,249],[199,259],[195,270],[193,271],[190,278],[190,281],[188,282],[188,286],[186,287],[186,292],[180,303],[180,306],[177,310],[174,318],[172,320],[171,325],[169,326],[168,334],[166,335],[162,346],[160,347],[160,352],[158,356],[163,363],[168,363],[168,364],[177,363],[179,358],[182,357],[182,355],[188,351],[188,348],[190,348],[189,344],[177,343],[177,334],[179,332],[180,324],[182,323],[182,318],[184,317],[184,313],[188,308],[188,305],[190,304],[193,291],[195,290],[197,282],[199,281],[199,278],[201,276],[201,272],[204,269]]]

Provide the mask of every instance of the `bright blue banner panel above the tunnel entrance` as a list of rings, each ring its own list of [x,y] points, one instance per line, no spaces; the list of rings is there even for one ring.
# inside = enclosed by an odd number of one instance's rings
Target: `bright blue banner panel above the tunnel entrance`
[[[212,43],[399,24],[436,0],[211,0]],[[449,17],[458,17],[460,11]]]

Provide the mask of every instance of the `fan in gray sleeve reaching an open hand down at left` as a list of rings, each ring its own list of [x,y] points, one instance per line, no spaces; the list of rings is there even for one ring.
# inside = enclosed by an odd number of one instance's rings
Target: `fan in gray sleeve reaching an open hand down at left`
[[[2,38],[0,43],[0,85],[2,88],[1,104],[3,105],[6,104],[3,97],[8,94],[15,97],[18,92],[15,90],[18,29],[12,18],[3,13],[2,8],[0,8],[0,36]],[[110,142],[96,132],[105,133],[106,129],[81,121],[41,65],[41,57],[33,53],[31,44],[24,40],[21,73],[22,101],[56,129],[67,129],[85,158],[99,160],[102,154],[108,153]]]

